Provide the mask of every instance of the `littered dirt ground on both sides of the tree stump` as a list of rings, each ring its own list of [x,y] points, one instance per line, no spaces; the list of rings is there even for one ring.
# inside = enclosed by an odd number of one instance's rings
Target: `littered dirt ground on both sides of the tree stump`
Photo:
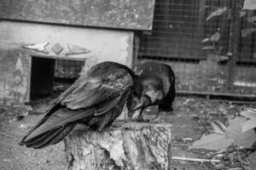
[[[211,129],[209,121],[218,119],[226,123],[239,112],[252,105],[234,105],[207,99],[178,97],[174,104],[174,115],[161,114],[160,120],[172,123],[172,156],[207,158],[211,152],[205,150],[187,150],[195,139]],[[45,105],[37,105],[44,111]],[[0,169],[1,170],[62,170],[67,169],[64,144],[55,144],[42,150],[32,150],[20,146],[22,136],[42,114],[35,115],[34,107],[22,120],[15,119],[12,110],[0,109]],[[254,105],[255,107],[255,105]],[[147,114],[147,113],[146,113]],[[171,169],[212,169],[207,163],[173,161]]]

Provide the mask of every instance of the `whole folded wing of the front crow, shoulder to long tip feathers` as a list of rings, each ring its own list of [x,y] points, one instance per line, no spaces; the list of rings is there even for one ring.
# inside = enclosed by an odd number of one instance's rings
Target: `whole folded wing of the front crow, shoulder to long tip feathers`
[[[28,138],[24,139],[33,139],[67,123],[90,120],[93,116],[108,113],[117,105],[125,104],[131,85],[131,77],[128,74],[124,77],[113,76],[111,81],[102,81],[98,77],[79,79],[57,99],[57,105],[61,104],[61,108],[58,107],[56,111],[50,111],[44,116],[44,119],[26,134]]]

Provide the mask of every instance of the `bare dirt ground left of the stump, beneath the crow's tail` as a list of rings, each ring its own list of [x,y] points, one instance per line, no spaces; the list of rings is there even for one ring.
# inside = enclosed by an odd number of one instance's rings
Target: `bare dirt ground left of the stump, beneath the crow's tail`
[[[14,116],[1,116],[0,169],[1,170],[62,170],[65,164],[64,144],[42,150],[31,150],[18,143],[22,136],[42,116],[26,116],[22,121],[11,122]]]

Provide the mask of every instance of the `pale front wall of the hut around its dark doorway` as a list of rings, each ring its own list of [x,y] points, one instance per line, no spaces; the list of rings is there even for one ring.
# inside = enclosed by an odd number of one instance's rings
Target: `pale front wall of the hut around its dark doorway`
[[[46,46],[49,54],[22,48],[22,44],[39,42],[49,42]],[[28,100],[29,67],[32,55],[61,59],[84,59],[85,71],[91,65],[106,60],[131,66],[132,42],[132,31],[0,21],[0,104]],[[51,48],[55,43],[60,43],[64,48],[61,54],[56,55],[52,51]],[[67,44],[87,48],[90,53],[66,56],[65,54],[69,51]],[[17,66],[15,66],[17,63],[21,65],[18,68],[18,80],[16,80]],[[14,99],[15,96],[19,96],[19,99]]]

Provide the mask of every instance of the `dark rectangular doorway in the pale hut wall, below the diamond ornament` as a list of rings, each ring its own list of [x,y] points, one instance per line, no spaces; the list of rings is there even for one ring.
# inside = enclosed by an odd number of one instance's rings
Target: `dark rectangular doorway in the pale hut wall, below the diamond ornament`
[[[30,101],[54,99],[79,77],[84,61],[32,56]]]

